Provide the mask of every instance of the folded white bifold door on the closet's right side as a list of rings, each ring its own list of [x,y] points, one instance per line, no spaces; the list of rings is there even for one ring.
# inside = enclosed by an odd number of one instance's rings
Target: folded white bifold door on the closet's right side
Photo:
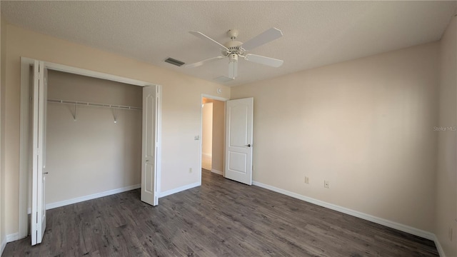
[[[159,203],[160,86],[143,88],[143,150],[141,157],[141,201]]]

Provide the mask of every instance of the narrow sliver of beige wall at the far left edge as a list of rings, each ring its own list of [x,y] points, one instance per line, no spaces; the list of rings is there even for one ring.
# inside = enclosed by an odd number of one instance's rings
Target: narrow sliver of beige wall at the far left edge
[[[5,226],[5,79],[6,79],[6,21],[0,18],[0,243],[6,242],[6,226]],[[0,246],[1,247],[1,246]],[[1,252],[0,252],[1,255]]]

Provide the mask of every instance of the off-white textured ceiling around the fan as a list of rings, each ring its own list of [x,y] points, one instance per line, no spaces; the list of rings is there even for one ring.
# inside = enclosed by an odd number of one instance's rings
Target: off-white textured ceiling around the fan
[[[167,57],[194,63],[220,51],[189,31],[224,44],[238,29],[248,41],[266,29],[283,36],[250,51],[284,60],[272,68],[238,61],[229,86],[269,79],[441,39],[456,1],[1,1],[11,24],[94,46],[156,66],[214,81],[228,60],[186,69]]]

